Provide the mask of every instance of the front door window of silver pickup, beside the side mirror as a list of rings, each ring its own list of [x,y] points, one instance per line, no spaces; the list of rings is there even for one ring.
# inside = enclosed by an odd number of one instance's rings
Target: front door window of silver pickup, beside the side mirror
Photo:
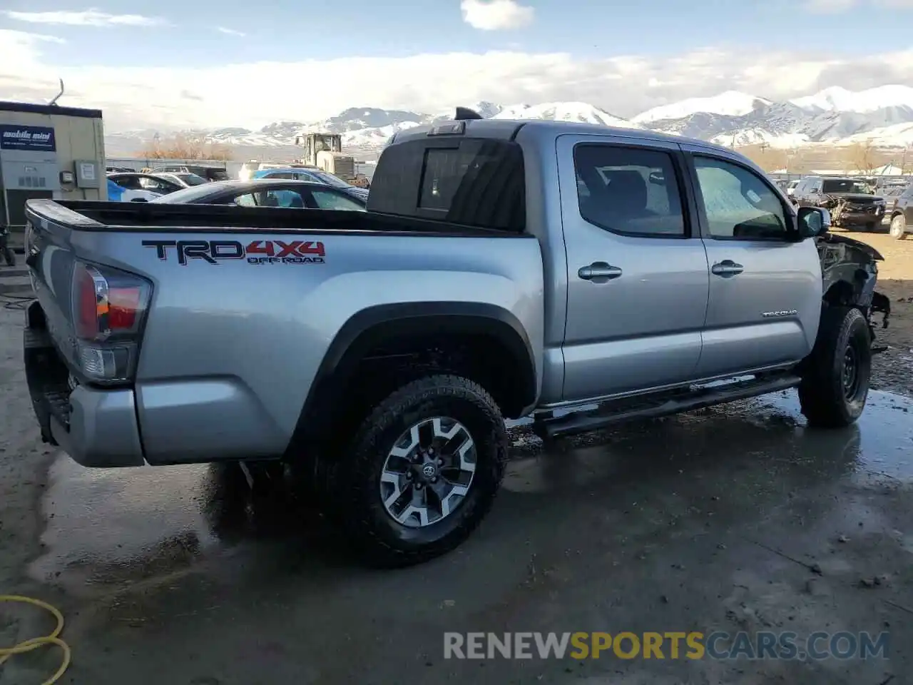
[[[761,177],[738,164],[694,157],[710,235],[742,240],[786,237],[780,196]]]

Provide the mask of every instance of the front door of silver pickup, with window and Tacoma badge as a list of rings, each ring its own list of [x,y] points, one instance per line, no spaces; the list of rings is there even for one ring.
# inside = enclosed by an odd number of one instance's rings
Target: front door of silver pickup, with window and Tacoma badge
[[[821,312],[814,240],[793,239],[792,207],[738,157],[694,146],[689,158],[710,267],[698,375],[800,361]]]

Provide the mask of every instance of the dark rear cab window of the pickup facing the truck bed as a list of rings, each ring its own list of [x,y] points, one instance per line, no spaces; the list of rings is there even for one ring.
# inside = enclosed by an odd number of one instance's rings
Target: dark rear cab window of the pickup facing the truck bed
[[[516,142],[478,138],[391,145],[377,164],[368,210],[521,233],[523,153]]]

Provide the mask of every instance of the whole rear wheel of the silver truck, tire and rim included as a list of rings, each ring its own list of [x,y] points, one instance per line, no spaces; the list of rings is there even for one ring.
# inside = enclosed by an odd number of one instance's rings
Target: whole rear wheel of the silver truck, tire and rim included
[[[480,385],[444,374],[416,380],[364,419],[334,464],[335,513],[372,565],[449,552],[491,508],[507,444],[504,419]]]

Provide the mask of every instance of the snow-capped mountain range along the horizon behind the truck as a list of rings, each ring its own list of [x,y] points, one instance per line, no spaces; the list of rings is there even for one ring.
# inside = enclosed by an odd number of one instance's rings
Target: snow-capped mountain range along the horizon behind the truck
[[[828,88],[812,95],[777,102],[728,90],[709,98],[688,98],[624,119],[587,102],[543,102],[500,105],[481,101],[470,106],[484,118],[581,121],[622,128],[649,129],[724,145],[766,143],[792,148],[809,143],[872,142],[878,146],[913,144],[913,88],[880,86],[854,92]],[[352,107],[311,123],[277,121],[257,131],[229,127],[185,132],[206,142],[293,158],[295,138],[308,132],[340,133],[344,149],[376,154],[390,136],[414,126],[452,118],[454,110],[426,114],[408,110]],[[129,153],[152,141],[154,131],[109,133],[110,153]],[[166,138],[169,134],[163,133]],[[116,151],[116,152],[115,152]],[[130,151],[130,152],[132,152]],[[272,151],[271,153],[269,151]]]

